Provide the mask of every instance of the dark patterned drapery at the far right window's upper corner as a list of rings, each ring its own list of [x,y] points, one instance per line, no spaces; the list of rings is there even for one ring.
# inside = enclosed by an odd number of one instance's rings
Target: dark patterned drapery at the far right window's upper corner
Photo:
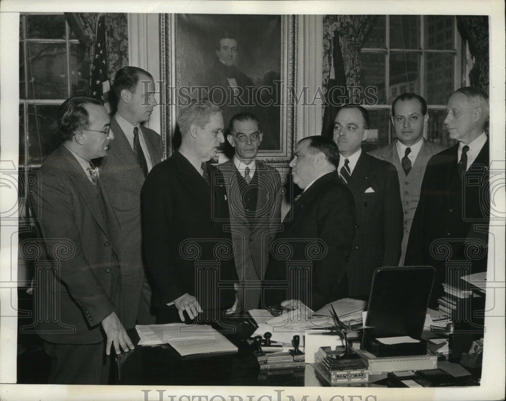
[[[489,29],[486,15],[459,15],[457,29],[462,40],[469,43],[475,65],[469,73],[471,86],[480,87],[488,94],[489,87]]]

